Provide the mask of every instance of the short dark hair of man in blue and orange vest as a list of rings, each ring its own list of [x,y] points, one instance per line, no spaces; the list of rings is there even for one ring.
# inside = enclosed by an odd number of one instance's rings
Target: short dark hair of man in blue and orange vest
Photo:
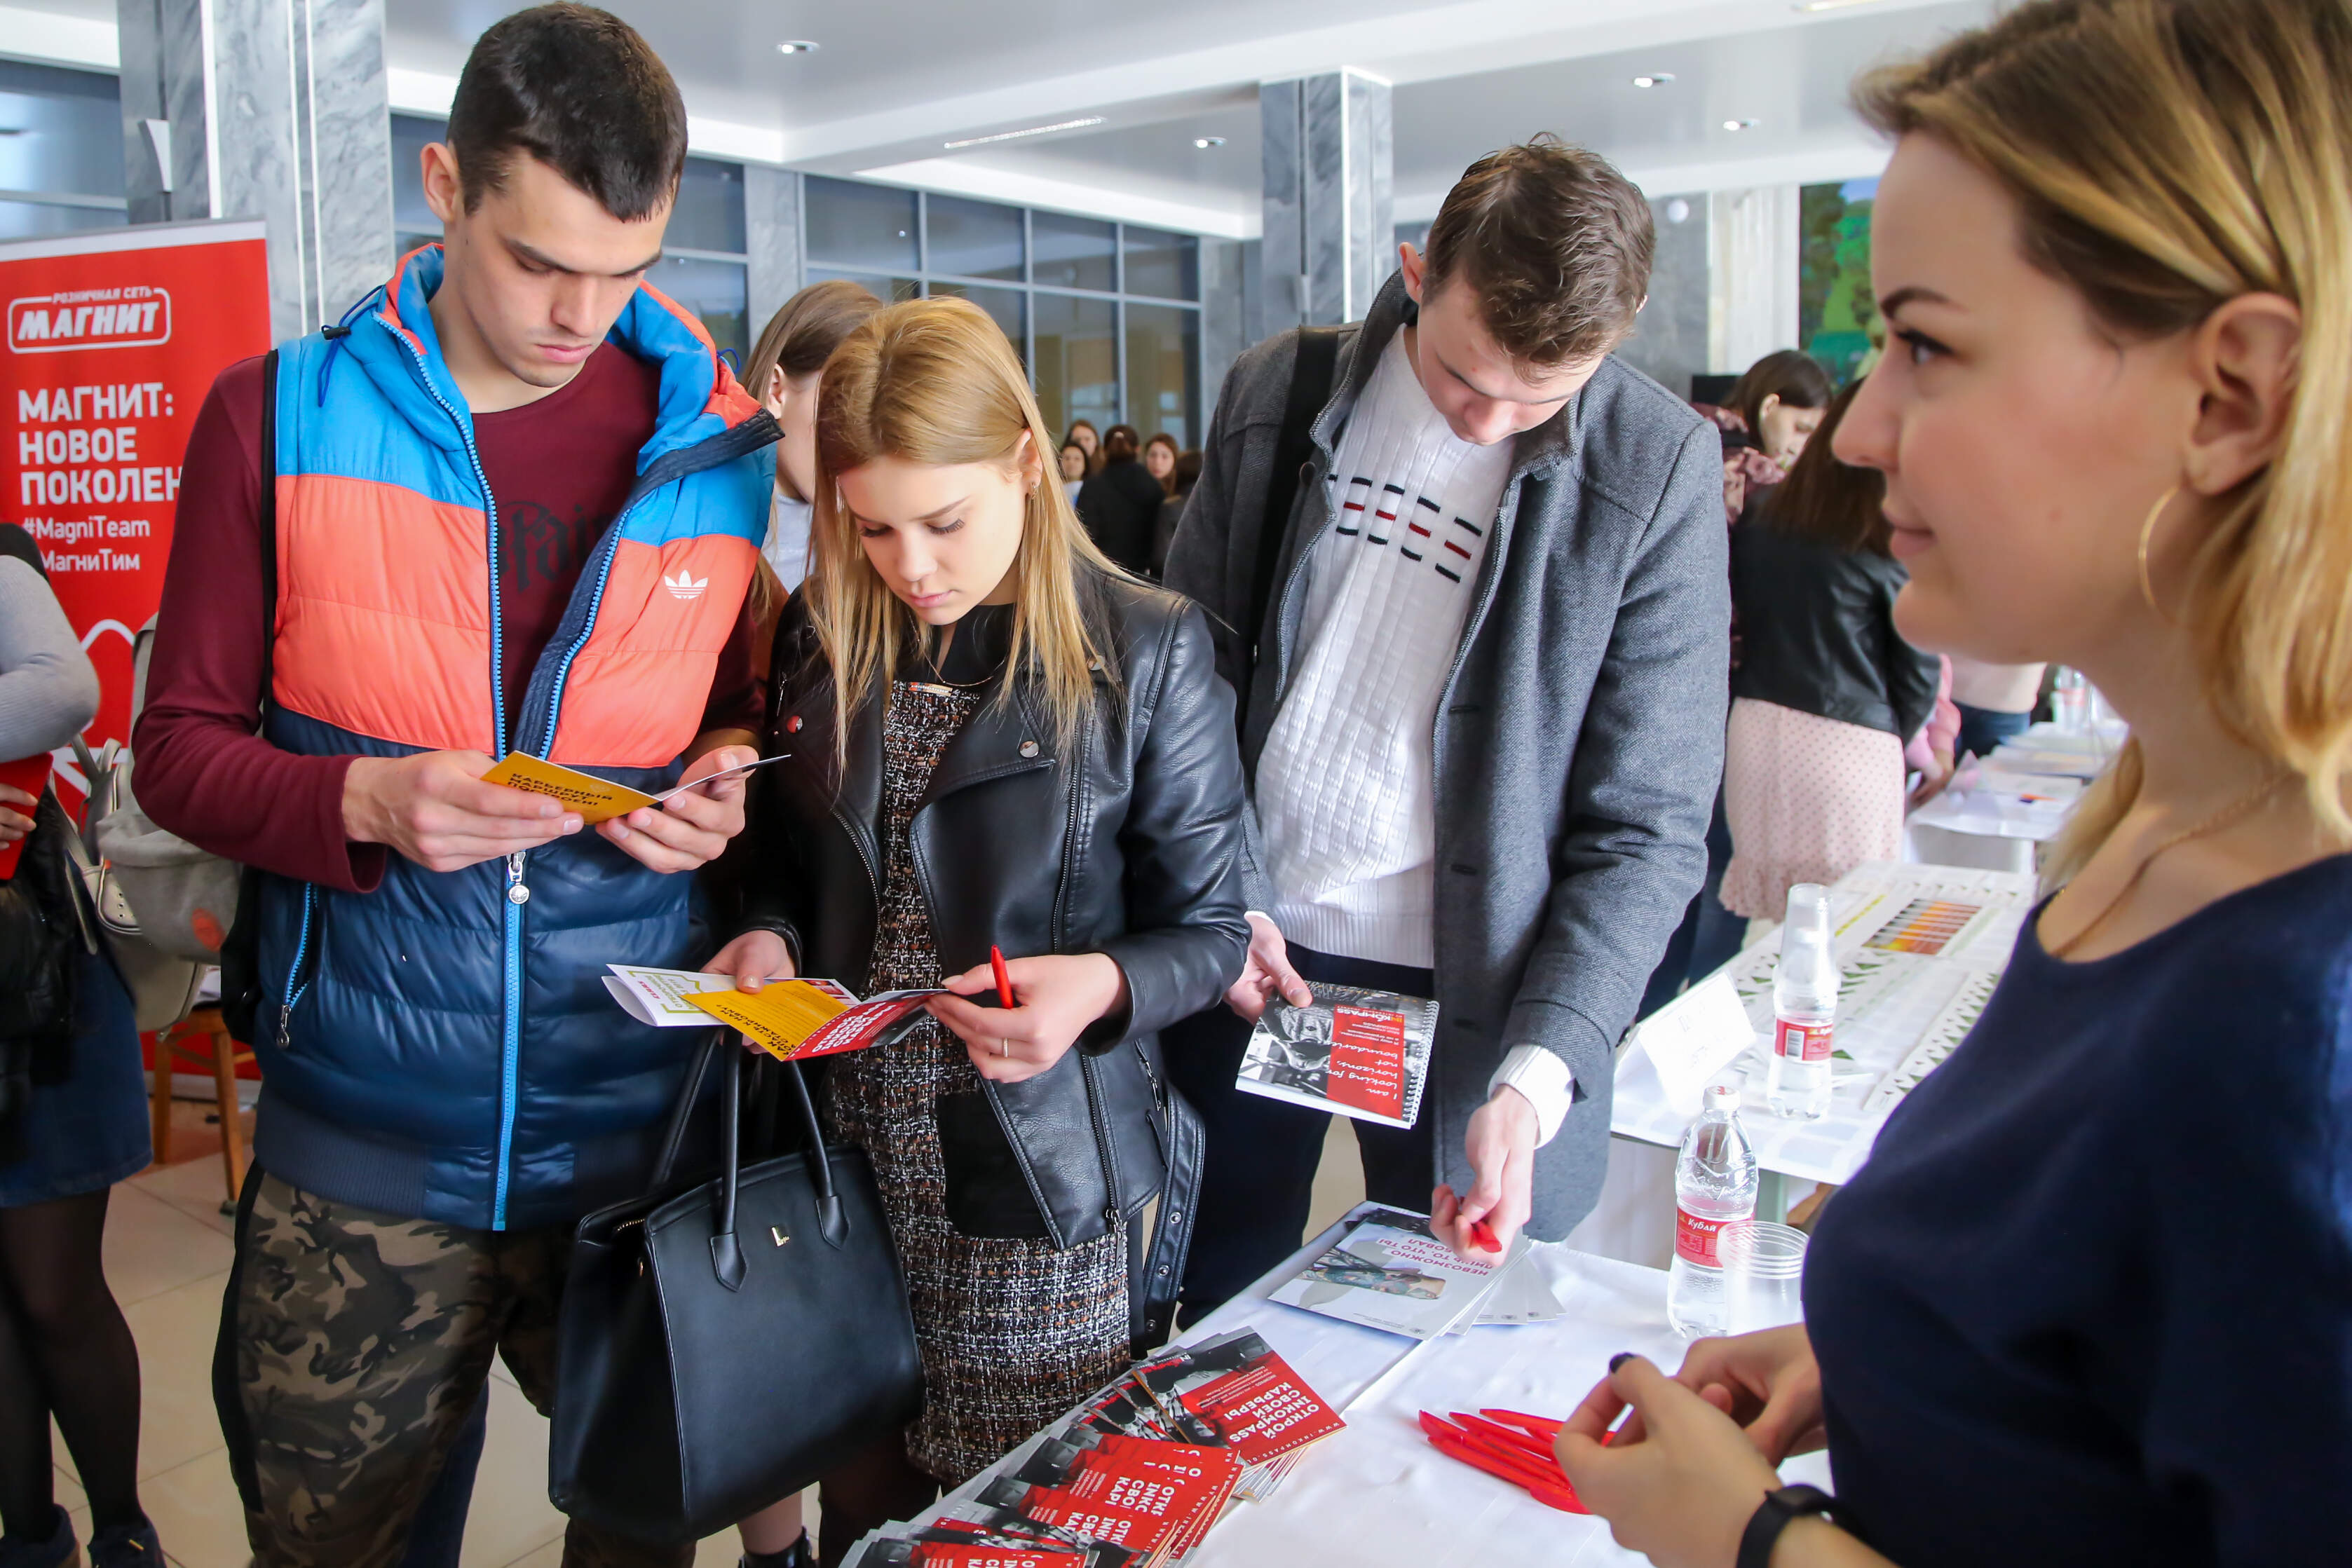
[[[687,103],[637,31],[590,5],[539,5],[475,40],[449,103],[466,212],[527,153],[623,223],[677,195]]]

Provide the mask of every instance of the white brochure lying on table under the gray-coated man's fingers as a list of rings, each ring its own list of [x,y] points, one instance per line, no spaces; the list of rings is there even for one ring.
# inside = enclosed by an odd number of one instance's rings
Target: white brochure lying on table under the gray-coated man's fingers
[[[1526,1248],[1529,1239],[1519,1234],[1510,1251],[1491,1262],[1461,1258],[1437,1239],[1428,1215],[1371,1208],[1336,1246],[1308,1262],[1303,1274],[1282,1281],[1272,1300],[1343,1324],[1435,1340],[1458,1324],[1470,1324],[1486,1305],[1496,1279]]]

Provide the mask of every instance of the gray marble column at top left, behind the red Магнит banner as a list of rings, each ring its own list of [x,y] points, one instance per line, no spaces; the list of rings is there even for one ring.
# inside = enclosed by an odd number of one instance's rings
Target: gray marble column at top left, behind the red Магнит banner
[[[383,0],[118,0],[132,223],[263,219],[270,331],[393,270]]]

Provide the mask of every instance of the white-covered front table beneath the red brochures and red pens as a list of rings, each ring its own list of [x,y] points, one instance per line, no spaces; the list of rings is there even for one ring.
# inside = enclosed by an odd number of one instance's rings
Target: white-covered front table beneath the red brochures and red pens
[[[1185,1568],[1564,1568],[1649,1561],[1618,1549],[1599,1519],[1548,1509],[1517,1486],[1437,1453],[1423,1439],[1416,1413],[1503,1406],[1566,1415],[1621,1349],[1665,1368],[1679,1366],[1684,1342],[1665,1326],[1665,1274],[1557,1244],[1536,1246],[1529,1255],[1566,1309],[1562,1319],[1472,1328],[1428,1345],[1265,1300],[1343,1227],[1345,1220],[1315,1237],[1247,1295],[1181,1335],[1190,1342],[1228,1328],[1256,1328],[1348,1418],[1348,1429],[1312,1448],[1279,1493],[1235,1507],[1185,1559]],[[1007,1465],[1018,1465],[1025,1450],[1016,1448]],[[1828,1460],[1797,1458],[1783,1465],[1783,1474],[1828,1486]],[[957,1490],[927,1519],[953,1512],[978,1486]]]

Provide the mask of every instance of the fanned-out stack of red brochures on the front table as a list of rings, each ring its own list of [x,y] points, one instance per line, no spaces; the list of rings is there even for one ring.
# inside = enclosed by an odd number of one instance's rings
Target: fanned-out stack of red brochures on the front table
[[[891,1526],[858,1568],[1160,1568],[1345,1422],[1254,1331],[1162,1352],[983,1476],[964,1519]]]

